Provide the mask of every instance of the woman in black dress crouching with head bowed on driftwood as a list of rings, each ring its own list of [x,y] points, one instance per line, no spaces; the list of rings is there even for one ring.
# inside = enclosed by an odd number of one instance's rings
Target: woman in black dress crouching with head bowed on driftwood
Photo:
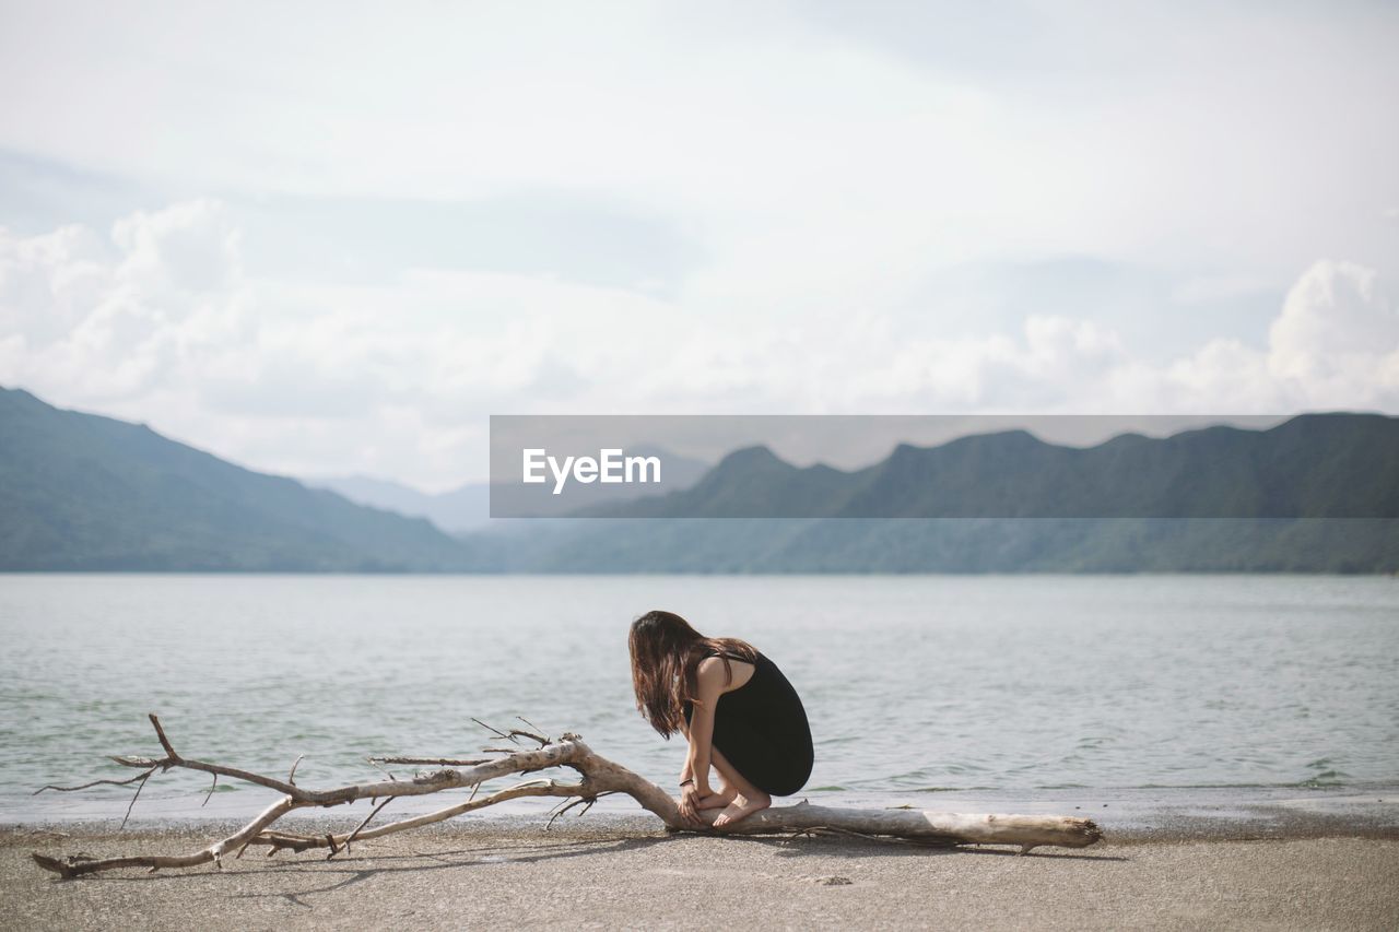
[[[704,826],[701,809],[723,809],[713,820],[722,828],[802,789],[811,775],[811,729],[772,661],[744,641],[706,638],[672,612],[637,619],[630,647],[637,708],[663,737],[690,739],[680,771],[687,821]]]

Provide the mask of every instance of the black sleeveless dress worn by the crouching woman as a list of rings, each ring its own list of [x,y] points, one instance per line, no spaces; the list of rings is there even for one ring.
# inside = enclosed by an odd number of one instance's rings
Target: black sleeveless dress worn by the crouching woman
[[[743,661],[733,655],[729,659]],[[691,711],[686,702],[687,723]],[[712,743],[748,782],[774,796],[790,796],[811,775],[814,751],[806,708],[782,670],[762,654],[748,682],[719,697]]]

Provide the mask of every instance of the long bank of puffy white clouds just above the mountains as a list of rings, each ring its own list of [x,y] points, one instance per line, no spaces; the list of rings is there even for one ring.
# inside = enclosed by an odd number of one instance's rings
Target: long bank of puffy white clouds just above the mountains
[[[0,382],[260,469],[432,487],[480,476],[491,413],[1399,411],[1399,318],[1372,270],[1315,263],[1259,337],[1156,364],[1066,315],[939,339],[879,309],[715,320],[529,276],[295,285],[243,269],[213,200],[108,236],[0,232]]]

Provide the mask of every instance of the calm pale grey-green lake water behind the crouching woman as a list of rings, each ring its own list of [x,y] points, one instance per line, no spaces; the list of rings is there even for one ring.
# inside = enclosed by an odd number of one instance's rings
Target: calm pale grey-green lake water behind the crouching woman
[[[627,626],[750,640],[802,693],[813,802],[1399,784],[1399,581],[1336,577],[0,577],[0,820],[120,817],[105,754],[304,785],[460,756],[523,715],[673,785]],[[400,770],[400,775],[403,771]],[[139,813],[248,812],[165,774]],[[245,793],[245,796],[239,796]],[[435,803],[435,800],[434,800]]]

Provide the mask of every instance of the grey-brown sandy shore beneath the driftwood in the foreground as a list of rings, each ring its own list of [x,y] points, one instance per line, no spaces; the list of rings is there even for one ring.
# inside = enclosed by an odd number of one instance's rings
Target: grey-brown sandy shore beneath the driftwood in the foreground
[[[653,821],[463,823],[222,872],[77,880],[29,851],[187,851],[210,827],[0,831],[4,928],[1399,928],[1399,838],[932,849],[666,835]]]

